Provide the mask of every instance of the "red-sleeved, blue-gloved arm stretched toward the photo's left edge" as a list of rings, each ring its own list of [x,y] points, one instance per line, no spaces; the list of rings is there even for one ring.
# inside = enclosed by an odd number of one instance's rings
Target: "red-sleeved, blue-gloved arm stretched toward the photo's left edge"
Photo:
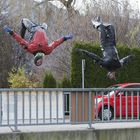
[[[28,42],[14,32],[10,27],[4,26],[4,31],[9,33],[20,45],[28,47]]]

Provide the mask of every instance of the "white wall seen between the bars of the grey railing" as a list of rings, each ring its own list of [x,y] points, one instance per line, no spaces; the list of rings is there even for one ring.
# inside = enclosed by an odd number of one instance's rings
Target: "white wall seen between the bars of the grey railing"
[[[56,94],[58,94],[58,118],[63,118],[63,93],[62,92],[51,92],[51,108],[50,108],[50,94],[45,92],[44,96],[42,92],[37,94],[35,92],[31,92],[31,119],[36,119],[37,117],[37,98],[38,98],[38,119],[43,119],[43,98],[45,102],[45,119],[50,119],[50,109],[52,119],[57,118],[57,99]],[[23,118],[24,111],[24,119],[30,118],[30,102],[29,102],[29,92],[24,93],[24,107],[23,107],[23,94],[21,92],[17,93],[17,111],[18,111],[18,119]],[[3,120],[7,120],[8,116],[8,94],[2,93],[2,110],[3,110]],[[9,93],[9,119],[14,119],[14,93]]]

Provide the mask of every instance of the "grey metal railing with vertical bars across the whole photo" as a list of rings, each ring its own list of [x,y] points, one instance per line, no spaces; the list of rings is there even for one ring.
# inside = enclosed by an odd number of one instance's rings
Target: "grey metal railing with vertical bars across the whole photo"
[[[0,127],[139,121],[140,88],[0,89]]]

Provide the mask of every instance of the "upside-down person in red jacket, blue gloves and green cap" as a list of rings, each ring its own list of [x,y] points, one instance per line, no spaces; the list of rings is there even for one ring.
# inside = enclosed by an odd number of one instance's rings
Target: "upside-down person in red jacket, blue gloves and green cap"
[[[51,44],[48,44],[48,38],[46,35],[47,24],[37,25],[29,19],[22,19],[22,28],[20,35],[14,32],[7,25],[4,26],[4,31],[9,33],[27,52],[35,56],[34,63],[36,66],[40,66],[45,55],[49,55],[56,47],[62,44],[64,41],[72,39],[72,35],[66,35],[58,40],[55,40]],[[25,40],[24,36],[26,30],[30,33],[29,40]]]

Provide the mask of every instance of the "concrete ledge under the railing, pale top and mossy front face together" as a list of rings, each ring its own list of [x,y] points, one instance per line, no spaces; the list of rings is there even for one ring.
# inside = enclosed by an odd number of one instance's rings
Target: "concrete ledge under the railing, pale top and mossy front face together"
[[[115,126],[115,124],[113,125]],[[110,127],[108,129],[105,129],[105,127],[103,128],[101,127],[103,125],[104,126],[105,125],[113,126],[113,125],[111,124],[102,124],[102,125],[95,124],[95,125],[98,125],[97,129],[96,128],[88,129],[88,125],[75,125],[75,126],[59,125],[57,127],[53,125],[19,127],[20,132],[12,132],[12,129],[4,128],[3,132],[1,131],[0,140],[139,140],[140,139],[139,122],[125,123],[125,125],[124,123],[118,123],[120,127],[118,126],[116,128]],[[6,131],[8,129],[9,131]]]

